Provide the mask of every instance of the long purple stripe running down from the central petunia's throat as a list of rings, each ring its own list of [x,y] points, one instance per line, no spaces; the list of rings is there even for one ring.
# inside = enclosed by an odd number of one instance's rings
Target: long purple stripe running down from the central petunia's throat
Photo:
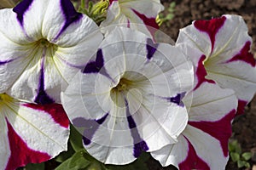
[[[140,137],[140,134],[137,131],[136,122],[133,120],[131,116],[128,102],[126,99],[125,99],[125,105],[126,105],[126,116],[127,116],[128,125],[131,129],[131,136],[132,136],[133,142],[135,143],[133,146],[133,156],[139,157],[143,151],[147,151],[149,148],[147,143]]]

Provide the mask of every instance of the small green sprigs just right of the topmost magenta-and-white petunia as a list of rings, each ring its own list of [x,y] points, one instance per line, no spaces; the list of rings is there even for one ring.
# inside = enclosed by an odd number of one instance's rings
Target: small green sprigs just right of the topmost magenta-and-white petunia
[[[164,12],[160,13],[157,16],[156,22],[159,26],[161,26],[164,22],[166,22],[167,26],[170,26],[170,23],[168,23],[167,21],[172,20],[174,18],[175,7],[176,7],[176,3],[172,2]]]

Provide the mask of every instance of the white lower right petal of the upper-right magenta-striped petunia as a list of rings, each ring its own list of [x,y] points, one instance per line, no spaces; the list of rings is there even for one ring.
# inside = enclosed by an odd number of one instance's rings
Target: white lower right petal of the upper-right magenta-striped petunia
[[[207,63],[207,78],[215,80],[222,88],[231,88],[236,96],[247,104],[256,92],[256,67],[244,62],[219,63],[215,60]],[[245,105],[244,105],[245,106]],[[242,108],[242,107],[241,107]],[[242,113],[241,109],[238,113]]]

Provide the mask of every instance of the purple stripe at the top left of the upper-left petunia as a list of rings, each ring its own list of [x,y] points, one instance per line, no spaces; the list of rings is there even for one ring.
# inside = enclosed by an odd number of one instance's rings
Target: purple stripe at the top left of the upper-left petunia
[[[13,11],[17,14],[17,20],[19,20],[20,25],[23,26],[23,17],[26,13],[26,10],[31,6],[33,0],[23,0],[15,8]]]

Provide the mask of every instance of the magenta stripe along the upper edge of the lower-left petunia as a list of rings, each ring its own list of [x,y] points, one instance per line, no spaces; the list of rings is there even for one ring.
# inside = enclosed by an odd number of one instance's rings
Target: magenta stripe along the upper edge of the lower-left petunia
[[[67,118],[66,112],[64,111],[62,105],[60,104],[49,104],[49,105],[35,105],[35,104],[24,104],[24,106],[32,108],[33,110],[43,111],[48,113],[56,123],[61,125],[61,127],[68,128],[69,120]]]

